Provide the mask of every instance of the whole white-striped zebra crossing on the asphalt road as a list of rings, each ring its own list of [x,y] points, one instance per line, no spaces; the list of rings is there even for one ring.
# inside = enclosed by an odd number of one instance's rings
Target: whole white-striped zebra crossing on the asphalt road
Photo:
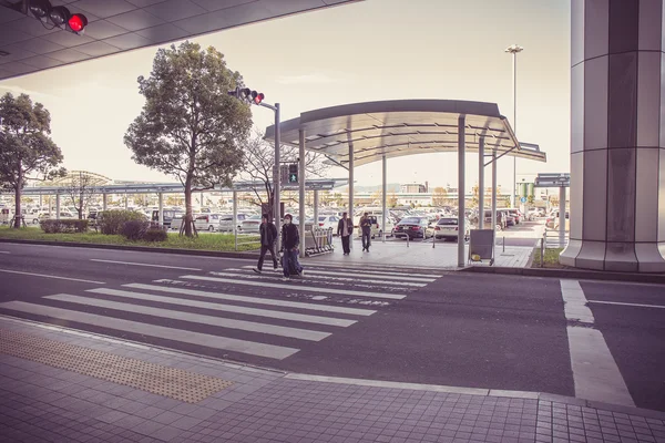
[[[256,275],[244,266],[172,280],[59,291],[33,301],[2,302],[0,311],[139,334],[171,347],[193,344],[213,353],[237,353],[239,359],[284,360],[439,277],[308,267],[304,278],[285,282],[277,272]]]

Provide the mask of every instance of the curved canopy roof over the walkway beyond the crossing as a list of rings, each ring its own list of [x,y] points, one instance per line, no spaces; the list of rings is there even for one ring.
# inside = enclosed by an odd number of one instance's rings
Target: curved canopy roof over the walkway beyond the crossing
[[[306,150],[347,166],[349,146],[360,166],[411,154],[457,152],[458,122],[464,117],[466,148],[477,152],[484,137],[485,152],[546,162],[538,145],[520,144],[495,103],[457,100],[396,100],[355,103],[304,112],[279,125],[282,142],[297,146],[305,131]],[[266,128],[275,140],[275,126]]]

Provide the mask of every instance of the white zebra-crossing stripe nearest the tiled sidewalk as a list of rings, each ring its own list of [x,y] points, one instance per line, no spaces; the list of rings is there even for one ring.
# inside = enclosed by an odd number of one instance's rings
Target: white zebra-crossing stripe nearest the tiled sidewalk
[[[32,313],[52,319],[73,321],[81,324],[90,324],[98,328],[113,329],[120,332],[131,332],[163,340],[172,340],[206,348],[221,349],[233,352],[247,353],[252,356],[266,357],[269,359],[284,360],[298,352],[299,349],[287,348],[275,344],[259,343],[256,341],[238,340],[208,333],[192,332],[182,329],[167,328],[141,321],[123,320],[113,317],[99,316],[72,311],[69,309],[53,308],[43,305],[27,303],[24,301],[8,301],[0,303],[0,308],[13,311]]]

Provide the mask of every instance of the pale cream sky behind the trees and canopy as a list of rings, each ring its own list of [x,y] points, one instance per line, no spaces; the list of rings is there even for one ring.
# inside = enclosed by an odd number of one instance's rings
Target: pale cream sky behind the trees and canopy
[[[192,39],[225,54],[245,83],[282,104],[283,120],[339,104],[400,99],[492,102],[521,142],[536,143],[548,163],[518,161],[518,181],[570,171],[570,0],[367,0]],[[516,43],[518,113],[512,59]],[[144,99],[151,47],[0,82],[0,93],[29,93],[51,112],[52,137],[68,169],[113,179],[174,182],[135,164],[123,136]],[[254,124],[273,123],[254,106]],[[516,124],[515,124],[516,123]],[[499,161],[499,185],[511,186],[512,158]],[[488,168],[489,169],[489,168]],[[347,172],[332,168],[330,177]],[[457,154],[388,161],[389,183],[457,187]],[[467,187],[478,156],[467,156]],[[485,183],[490,183],[487,171]],[[356,168],[356,183],[381,183],[381,164]]]

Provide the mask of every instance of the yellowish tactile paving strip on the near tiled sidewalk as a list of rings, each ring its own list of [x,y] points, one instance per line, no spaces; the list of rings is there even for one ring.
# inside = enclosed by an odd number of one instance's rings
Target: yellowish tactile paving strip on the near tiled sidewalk
[[[197,403],[233,384],[215,377],[4,329],[0,329],[0,352],[187,403]]]

